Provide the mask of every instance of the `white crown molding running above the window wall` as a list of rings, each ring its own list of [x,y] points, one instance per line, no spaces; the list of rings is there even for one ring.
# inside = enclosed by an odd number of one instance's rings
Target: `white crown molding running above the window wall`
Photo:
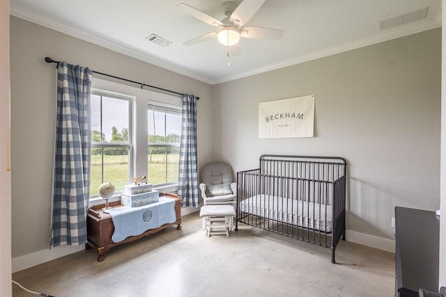
[[[10,6],[10,15],[13,15],[14,17],[19,17],[20,19],[24,19],[29,22],[33,22],[40,26],[45,26],[49,29],[52,29],[54,31],[59,31],[61,33],[70,35],[70,36],[78,38],[80,40],[84,40],[86,42],[91,42],[91,43],[93,43],[93,45],[99,45],[100,47],[105,47],[106,49],[116,51],[119,54],[123,54],[125,56],[130,56],[132,58],[136,58],[140,61],[155,65],[157,67],[161,67],[165,70],[169,70],[171,72],[176,72],[178,74],[182,74],[185,77],[190,77],[192,79],[197,79],[199,81],[203,81],[204,83],[212,84],[212,81],[207,79],[206,77],[201,77],[193,72],[187,71],[187,70],[185,70],[181,67],[178,67],[176,65],[172,65],[172,64],[166,63],[164,61],[160,61],[157,58],[148,56],[147,54],[143,54],[140,51],[137,51],[136,49],[132,49],[132,48],[128,47],[128,45],[124,45],[121,42],[118,42],[118,40],[114,40],[114,41],[106,40],[105,38],[101,38],[97,35],[92,35],[90,33],[86,33],[86,32],[84,32],[80,29],[77,29],[75,27],[67,26],[65,24],[55,22],[52,19],[48,19],[47,17],[44,17],[43,15],[39,15],[37,13],[26,10],[24,8],[17,8],[16,6],[13,6],[12,4]]]

